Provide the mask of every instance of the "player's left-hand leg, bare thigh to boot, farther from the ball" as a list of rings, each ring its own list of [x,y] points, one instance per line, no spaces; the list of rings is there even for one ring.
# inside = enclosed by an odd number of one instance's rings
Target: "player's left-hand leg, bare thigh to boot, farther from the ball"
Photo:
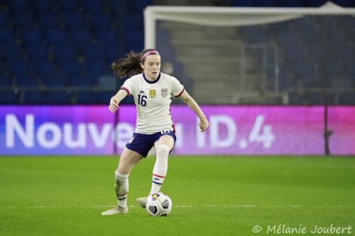
[[[119,159],[119,167],[115,172],[115,184],[116,197],[118,206],[110,210],[106,210],[102,215],[116,215],[128,213],[127,207],[127,194],[129,193],[129,173],[134,166],[143,158],[138,152],[129,150],[127,147],[121,154]]]

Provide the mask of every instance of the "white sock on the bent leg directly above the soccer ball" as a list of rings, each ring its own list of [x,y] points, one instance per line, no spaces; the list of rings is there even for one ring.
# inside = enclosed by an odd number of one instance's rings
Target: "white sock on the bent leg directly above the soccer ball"
[[[156,150],[156,159],[153,168],[153,178],[152,178],[152,193],[158,193],[160,191],[161,185],[168,172],[168,155],[169,147],[167,145],[159,145]]]

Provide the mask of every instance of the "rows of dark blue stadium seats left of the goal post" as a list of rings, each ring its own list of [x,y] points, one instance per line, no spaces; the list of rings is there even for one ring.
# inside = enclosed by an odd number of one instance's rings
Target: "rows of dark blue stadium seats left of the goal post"
[[[131,3],[1,1],[0,103],[107,103],[116,88],[100,93],[99,78],[112,77],[109,65],[125,52],[143,48],[142,11],[152,1]],[[124,27],[124,18],[136,20]]]

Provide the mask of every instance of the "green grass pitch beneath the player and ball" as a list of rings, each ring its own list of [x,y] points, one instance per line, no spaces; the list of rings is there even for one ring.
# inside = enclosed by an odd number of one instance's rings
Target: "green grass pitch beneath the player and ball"
[[[173,156],[162,188],[173,200],[168,217],[135,201],[151,188],[154,161],[143,159],[129,176],[129,214],[102,216],[116,203],[118,157],[2,157],[0,235],[286,235],[267,232],[274,225],[312,235],[315,225],[355,227],[354,157]]]

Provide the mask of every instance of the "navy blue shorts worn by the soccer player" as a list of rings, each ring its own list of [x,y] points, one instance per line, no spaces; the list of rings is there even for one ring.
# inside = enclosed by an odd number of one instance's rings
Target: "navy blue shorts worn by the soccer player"
[[[158,133],[154,133],[153,135],[144,135],[141,133],[133,133],[133,137],[126,144],[126,147],[129,150],[134,152],[138,152],[139,154],[146,157],[148,152],[154,147],[154,143],[159,140],[159,138],[163,135],[169,135],[174,139],[174,145],[176,142],[176,136],[173,131],[162,131]]]

